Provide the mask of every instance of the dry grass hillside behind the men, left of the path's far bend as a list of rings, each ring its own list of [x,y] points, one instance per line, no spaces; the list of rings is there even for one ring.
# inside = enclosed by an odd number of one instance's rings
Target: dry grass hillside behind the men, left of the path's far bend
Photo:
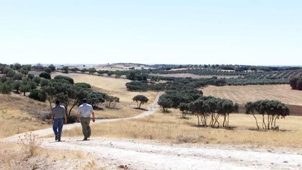
[[[74,79],[75,82],[86,82],[93,86],[95,91],[103,92],[120,98],[120,102],[116,104],[117,109],[107,109],[105,105],[99,105],[103,110],[95,110],[95,116],[97,118],[125,118],[137,115],[144,112],[143,110],[134,109],[136,103],[132,98],[135,95],[142,94],[148,97],[147,104],[142,106],[142,109],[147,109],[148,104],[155,100],[157,92],[129,92],[125,84],[131,80],[122,78],[112,78],[103,76],[93,76],[84,74],[62,74],[54,73],[52,77],[57,75],[69,76]],[[73,113],[76,113],[76,108]]]

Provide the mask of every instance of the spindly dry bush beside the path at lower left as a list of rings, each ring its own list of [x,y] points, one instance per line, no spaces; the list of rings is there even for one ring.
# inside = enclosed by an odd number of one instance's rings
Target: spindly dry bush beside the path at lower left
[[[25,133],[23,137],[19,136],[19,142],[24,146],[25,154],[29,157],[37,155],[42,140],[38,138],[38,134],[32,132]]]

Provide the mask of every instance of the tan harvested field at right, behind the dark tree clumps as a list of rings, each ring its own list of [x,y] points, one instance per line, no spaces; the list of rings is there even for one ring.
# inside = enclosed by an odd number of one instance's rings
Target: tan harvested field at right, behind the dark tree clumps
[[[208,86],[201,89],[204,95],[228,98],[237,103],[246,103],[260,99],[279,100],[286,104],[302,105],[302,91],[292,90],[283,85],[248,85],[248,86]]]

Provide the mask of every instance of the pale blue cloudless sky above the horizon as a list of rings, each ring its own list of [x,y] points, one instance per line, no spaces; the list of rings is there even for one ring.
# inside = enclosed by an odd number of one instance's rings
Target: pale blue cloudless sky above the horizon
[[[302,0],[0,0],[0,63],[302,65]]]

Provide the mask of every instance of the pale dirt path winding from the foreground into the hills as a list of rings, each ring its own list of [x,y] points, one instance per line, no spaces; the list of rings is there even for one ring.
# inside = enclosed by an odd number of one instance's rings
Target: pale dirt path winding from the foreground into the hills
[[[156,110],[156,100],[149,105],[147,112],[126,118],[136,119],[148,116]],[[121,119],[97,120],[95,123],[111,122]],[[64,125],[65,129],[80,126],[79,123]],[[52,134],[52,129],[34,131],[39,136]],[[2,141],[16,141],[18,135]],[[93,138],[80,141],[79,138],[68,138],[64,142],[54,142],[46,138],[42,147],[64,151],[86,151],[105,162],[108,168],[115,169],[117,165],[128,165],[134,170],[302,170],[302,153],[252,151],[239,149],[221,149],[205,146],[171,145],[163,143],[147,143],[143,141]]]

